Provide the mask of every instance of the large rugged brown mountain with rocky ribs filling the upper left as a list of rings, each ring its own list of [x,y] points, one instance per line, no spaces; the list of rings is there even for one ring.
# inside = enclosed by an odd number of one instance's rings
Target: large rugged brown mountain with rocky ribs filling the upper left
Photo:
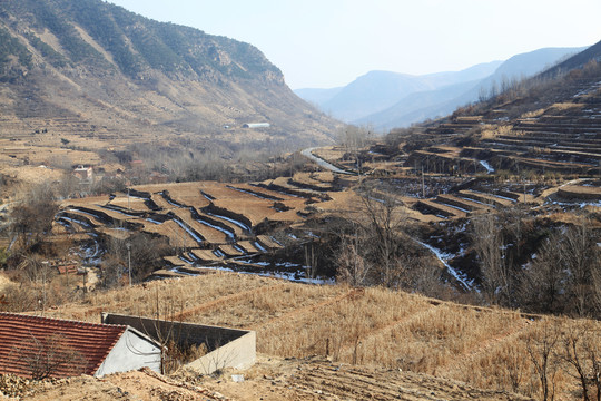
[[[254,46],[101,0],[0,1],[0,136],[48,128],[218,155],[323,143],[337,124]]]

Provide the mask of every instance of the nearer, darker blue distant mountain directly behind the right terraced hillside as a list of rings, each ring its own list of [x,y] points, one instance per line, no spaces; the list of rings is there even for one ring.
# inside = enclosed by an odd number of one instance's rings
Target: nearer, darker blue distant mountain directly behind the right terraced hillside
[[[533,76],[583,49],[585,48],[545,48],[513,56],[502,62],[494,70],[494,74],[483,79],[414,92],[387,109],[356,119],[353,123],[370,124],[376,129],[386,130],[445,116],[460,106],[476,101],[483,94],[487,96],[487,94],[500,90],[504,82]]]

